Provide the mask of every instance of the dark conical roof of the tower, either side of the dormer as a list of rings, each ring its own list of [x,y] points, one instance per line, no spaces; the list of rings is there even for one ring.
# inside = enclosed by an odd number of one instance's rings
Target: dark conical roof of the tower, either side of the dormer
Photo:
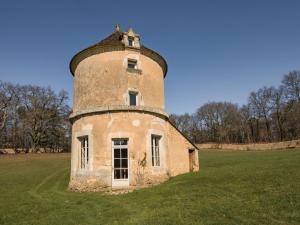
[[[124,33],[120,30],[115,30],[111,35],[106,37],[105,39],[101,40],[100,42],[78,52],[70,62],[70,71],[74,76],[75,70],[78,64],[84,60],[85,58],[100,54],[103,52],[110,52],[110,51],[123,51],[125,50],[125,44],[122,42]],[[167,74],[168,65],[165,59],[159,55],[157,52],[145,47],[140,47],[141,54],[150,57],[154,61],[156,61],[164,71],[164,76]]]

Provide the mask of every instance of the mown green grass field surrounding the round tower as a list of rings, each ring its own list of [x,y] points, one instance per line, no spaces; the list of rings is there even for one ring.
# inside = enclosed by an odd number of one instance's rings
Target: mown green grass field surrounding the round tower
[[[0,157],[0,224],[300,224],[300,149],[200,152],[200,172],[125,195],[66,191],[68,154]]]

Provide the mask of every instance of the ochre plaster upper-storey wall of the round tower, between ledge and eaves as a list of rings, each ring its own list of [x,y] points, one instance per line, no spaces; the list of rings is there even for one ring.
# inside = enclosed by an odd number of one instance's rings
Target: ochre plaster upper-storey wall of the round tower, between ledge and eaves
[[[128,72],[127,59],[136,59],[141,73]],[[90,56],[75,71],[73,112],[128,105],[129,91],[138,92],[138,105],[164,110],[164,75],[159,64],[136,51]]]

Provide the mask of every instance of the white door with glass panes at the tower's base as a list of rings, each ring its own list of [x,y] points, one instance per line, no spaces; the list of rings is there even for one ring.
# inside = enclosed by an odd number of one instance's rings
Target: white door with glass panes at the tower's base
[[[112,140],[112,186],[129,186],[128,139]]]

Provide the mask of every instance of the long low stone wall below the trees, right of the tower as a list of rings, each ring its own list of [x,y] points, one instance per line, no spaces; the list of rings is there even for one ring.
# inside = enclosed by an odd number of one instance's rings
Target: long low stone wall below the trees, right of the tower
[[[220,149],[220,150],[240,150],[240,151],[260,151],[276,149],[300,148],[300,140],[274,142],[274,143],[256,143],[256,144],[218,144],[205,143],[197,144],[199,149]]]

